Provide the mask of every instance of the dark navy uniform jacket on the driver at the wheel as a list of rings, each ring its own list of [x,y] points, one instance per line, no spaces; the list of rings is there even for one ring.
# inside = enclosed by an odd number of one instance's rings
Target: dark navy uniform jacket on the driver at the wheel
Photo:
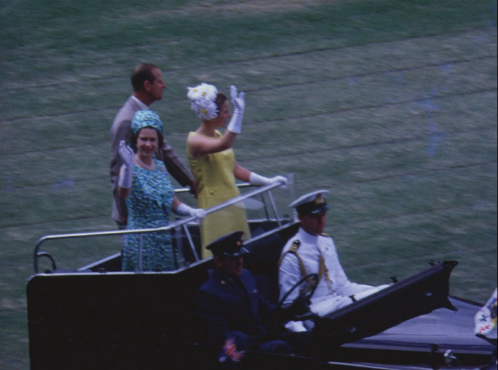
[[[268,324],[275,305],[258,292],[254,276],[242,271],[242,286],[217,270],[198,292],[197,312],[211,341],[220,344],[228,337],[240,349],[254,349],[272,339]]]

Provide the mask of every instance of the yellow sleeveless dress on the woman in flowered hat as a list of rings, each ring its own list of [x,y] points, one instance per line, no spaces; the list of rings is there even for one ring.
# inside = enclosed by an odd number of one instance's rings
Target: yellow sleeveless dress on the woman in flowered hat
[[[216,134],[221,137],[220,132],[216,131]],[[187,142],[194,135],[200,134],[190,132]],[[197,206],[199,208],[208,209],[240,195],[238,187],[235,186],[235,176],[233,175],[235,168],[233,150],[227,149],[195,159],[190,155],[187,147],[187,156],[190,171],[197,185]],[[205,248],[206,245],[233,231],[244,231],[242,240],[251,238],[246,211],[242,203],[207,215],[201,221],[200,229],[202,258],[212,256],[211,251]]]

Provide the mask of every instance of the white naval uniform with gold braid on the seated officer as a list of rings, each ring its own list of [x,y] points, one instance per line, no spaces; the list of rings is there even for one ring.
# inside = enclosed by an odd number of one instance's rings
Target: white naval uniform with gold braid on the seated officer
[[[281,256],[292,247],[295,240],[299,240],[301,243],[297,249],[297,254],[301,257],[308,274],[319,272],[320,251],[325,259],[330,281],[327,281],[325,274],[323,274],[318,283],[317,290],[315,290],[313,294],[310,305],[312,312],[319,316],[327,315],[330,312],[334,312],[339,308],[353,303],[353,299],[349,297],[352,294],[355,294],[355,299],[362,299],[389,286],[380,285],[378,287],[372,287],[371,285],[350,282],[339,263],[334,240],[329,236],[312,236],[301,228],[295,236],[287,241],[287,244],[282,249]],[[284,294],[287,293],[290,288],[292,288],[292,285],[297,283],[301,277],[303,276],[301,276],[301,271],[299,270],[298,258],[292,253],[285,254],[278,270],[280,299],[283,298]],[[292,303],[298,294],[299,288],[296,288],[294,292],[285,299],[284,303]],[[285,327],[291,331],[306,330],[301,321],[290,321]]]

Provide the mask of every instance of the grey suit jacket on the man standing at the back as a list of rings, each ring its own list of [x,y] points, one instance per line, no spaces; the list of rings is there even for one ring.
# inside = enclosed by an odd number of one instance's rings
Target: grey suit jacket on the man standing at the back
[[[132,119],[136,112],[141,110],[141,107],[130,96],[125,105],[119,109],[116,118],[111,127],[111,184],[112,193],[114,195],[114,204],[112,207],[112,218],[116,221],[121,221],[121,217],[127,217],[125,200],[118,197],[118,178],[119,169],[123,162],[119,155],[119,143],[121,140],[130,143],[132,136]],[[181,159],[173,148],[164,142],[163,148],[158,148],[156,158],[163,161],[168,173],[174,177],[181,186],[190,186],[194,178],[190,171],[183,164]]]

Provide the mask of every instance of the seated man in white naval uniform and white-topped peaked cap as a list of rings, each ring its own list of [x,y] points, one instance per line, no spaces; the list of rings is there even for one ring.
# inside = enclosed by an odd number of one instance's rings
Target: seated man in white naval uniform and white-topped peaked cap
[[[323,195],[327,193],[326,190],[314,191],[289,205],[296,209],[301,227],[283,247],[278,270],[280,299],[303,276],[318,274],[319,282],[311,297],[310,309],[319,316],[327,315],[389,286],[372,287],[348,280],[339,263],[334,241],[323,234],[329,209]],[[292,303],[300,291],[310,294],[310,289],[309,283],[303,283],[294,289],[284,304]],[[290,321],[285,327],[291,331],[306,331],[312,327],[312,322]]]

